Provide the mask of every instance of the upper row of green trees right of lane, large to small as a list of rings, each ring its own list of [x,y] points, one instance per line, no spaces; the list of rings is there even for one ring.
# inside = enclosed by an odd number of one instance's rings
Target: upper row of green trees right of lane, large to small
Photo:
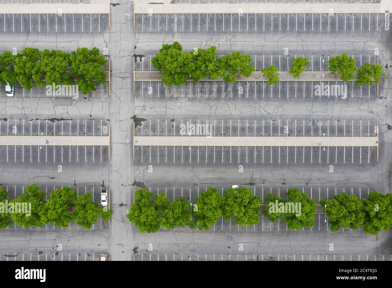
[[[234,83],[237,81],[237,75],[249,77],[255,71],[254,67],[249,64],[252,61],[249,54],[234,51],[218,57],[215,50],[216,47],[211,46],[208,49],[195,48],[189,53],[182,52],[181,44],[175,41],[172,44],[163,44],[159,53],[151,61],[155,69],[162,72],[162,82],[166,86],[185,84],[188,77],[197,83],[207,78],[207,73],[210,79],[216,80],[222,77],[227,83]],[[344,82],[354,80],[355,73],[357,73],[355,85],[373,85],[373,82],[380,82],[381,76],[387,77],[385,73],[381,73],[382,65],[365,63],[358,69],[355,62],[354,58],[343,53],[328,61],[328,69],[331,74],[338,73],[339,79]],[[309,64],[310,61],[305,57],[293,58],[289,73],[294,78],[299,78]],[[279,83],[279,72],[276,66],[270,65],[260,71],[268,78],[269,85]]]

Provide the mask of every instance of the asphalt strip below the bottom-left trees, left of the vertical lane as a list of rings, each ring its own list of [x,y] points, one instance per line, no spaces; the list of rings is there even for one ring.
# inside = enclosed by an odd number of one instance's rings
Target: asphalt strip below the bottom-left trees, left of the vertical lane
[[[0,261],[100,261],[100,254],[109,254],[109,229],[98,225],[99,221],[94,230],[76,225],[71,229],[49,225],[47,229],[2,229]]]

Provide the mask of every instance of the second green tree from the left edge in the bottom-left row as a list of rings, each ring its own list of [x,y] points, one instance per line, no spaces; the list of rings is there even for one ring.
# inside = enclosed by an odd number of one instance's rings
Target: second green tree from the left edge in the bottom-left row
[[[15,211],[11,213],[11,217],[15,223],[18,223],[19,227],[40,227],[44,223],[42,222],[39,212],[42,208],[42,202],[44,201],[46,193],[40,192],[40,188],[36,184],[28,185],[25,189],[27,190],[27,193],[23,192],[22,195],[14,199],[12,202],[14,203],[15,208],[19,205],[23,205],[25,207],[24,203],[28,203],[29,209],[31,204],[31,210],[27,212],[26,209],[24,209],[24,211],[17,211],[17,209],[15,209]]]

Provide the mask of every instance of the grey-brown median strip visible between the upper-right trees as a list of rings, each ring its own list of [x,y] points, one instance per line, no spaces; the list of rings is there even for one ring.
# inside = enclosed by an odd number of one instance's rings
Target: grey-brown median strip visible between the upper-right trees
[[[323,76],[324,75],[324,76]],[[156,71],[135,71],[135,81],[158,81],[161,80],[162,73]],[[207,74],[208,77],[208,74]],[[281,81],[341,81],[338,74],[331,74],[325,72],[302,72],[299,78],[294,78],[292,74],[286,71],[279,72],[279,79]],[[221,77],[218,80],[203,79],[202,81],[222,81]],[[261,72],[253,72],[250,77],[237,76],[238,81],[267,81],[267,77],[263,76]],[[188,78],[192,81],[192,78]]]

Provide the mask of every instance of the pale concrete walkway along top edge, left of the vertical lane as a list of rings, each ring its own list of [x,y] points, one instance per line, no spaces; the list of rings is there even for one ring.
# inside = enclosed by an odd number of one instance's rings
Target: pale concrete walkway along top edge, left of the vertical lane
[[[109,14],[110,12],[109,0],[90,0],[89,3],[60,2],[55,4],[0,3],[0,10],[2,14]]]

